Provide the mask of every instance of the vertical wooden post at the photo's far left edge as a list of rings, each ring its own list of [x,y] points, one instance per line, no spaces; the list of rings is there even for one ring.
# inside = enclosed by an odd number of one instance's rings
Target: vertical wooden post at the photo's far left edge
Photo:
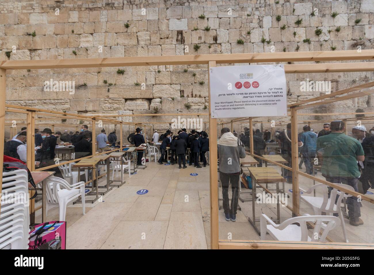
[[[4,154],[4,126],[5,126],[5,100],[6,100],[6,70],[0,68],[0,154]],[[3,167],[3,157],[0,158],[0,167]],[[1,187],[3,186],[3,169],[0,177],[0,200]],[[1,210],[1,204],[0,204]],[[218,216],[217,216],[218,218]]]

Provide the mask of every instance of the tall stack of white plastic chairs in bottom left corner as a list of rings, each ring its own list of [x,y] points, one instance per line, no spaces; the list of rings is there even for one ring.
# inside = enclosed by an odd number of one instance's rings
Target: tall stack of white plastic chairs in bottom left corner
[[[30,216],[27,171],[3,172],[0,249],[28,249]]]

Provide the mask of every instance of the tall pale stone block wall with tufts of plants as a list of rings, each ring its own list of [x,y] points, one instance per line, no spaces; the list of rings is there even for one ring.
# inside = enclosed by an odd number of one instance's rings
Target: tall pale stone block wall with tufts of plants
[[[0,12],[1,60],[332,51],[374,43],[373,0],[3,0]],[[373,73],[288,74],[289,103],[320,95],[300,92],[306,78],[331,80],[334,92]],[[44,91],[50,79],[75,81],[74,94]],[[206,65],[10,70],[7,103],[80,114],[207,113],[207,83]],[[372,106],[367,97],[326,110]]]

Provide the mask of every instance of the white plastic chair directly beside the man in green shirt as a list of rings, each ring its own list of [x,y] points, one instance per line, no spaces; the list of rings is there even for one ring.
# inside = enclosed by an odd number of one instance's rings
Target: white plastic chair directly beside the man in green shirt
[[[352,186],[347,184],[340,184],[336,183],[338,186],[342,186],[346,189],[355,191]],[[304,189],[299,188],[304,194],[310,194],[314,190],[318,189],[318,192],[323,194],[323,197],[315,197],[315,196],[300,196],[300,201],[305,202],[309,207],[313,209],[315,215],[321,215],[322,212],[325,212],[326,215],[332,215],[333,213],[338,213],[338,216],[341,221],[341,227],[343,229],[343,236],[346,242],[347,239],[347,232],[346,232],[346,224],[344,223],[343,214],[341,213],[341,201],[343,198],[351,197],[352,195],[346,194],[344,192],[338,191],[338,189],[333,188],[330,193],[330,198],[328,197],[328,188],[327,185],[323,183],[319,183],[310,187],[307,191]],[[337,198],[337,203],[335,204],[335,199]]]

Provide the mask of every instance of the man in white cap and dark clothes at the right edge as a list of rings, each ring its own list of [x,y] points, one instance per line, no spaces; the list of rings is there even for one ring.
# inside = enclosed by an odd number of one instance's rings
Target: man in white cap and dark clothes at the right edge
[[[365,160],[358,163],[362,172],[359,180],[362,183],[362,193],[365,195],[369,188],[374,187],[374,137],[366,137],[366,128],[363,125],[353,127],[352,135],[361,142],[364,149]]]

